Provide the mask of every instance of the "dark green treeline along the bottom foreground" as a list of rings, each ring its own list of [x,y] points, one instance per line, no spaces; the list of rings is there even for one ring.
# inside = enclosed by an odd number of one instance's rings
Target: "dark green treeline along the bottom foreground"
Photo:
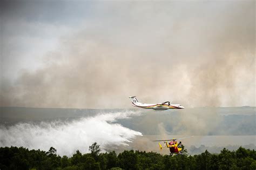
[[[256,152],[238,148],[228,151],[224,148],[219,154],[207,150],[198,155],[161,155],[155,152],[124,151],[100,153],[95,142],[91,153],[77,151],[72,157],[60,157],[56,149],[48,152],[29,150],[24,147],[1,147],[0,169],[256,169]]]

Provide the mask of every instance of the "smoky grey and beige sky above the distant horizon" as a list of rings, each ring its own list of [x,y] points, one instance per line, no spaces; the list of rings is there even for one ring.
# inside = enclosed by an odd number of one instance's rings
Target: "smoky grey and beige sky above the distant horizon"
[[[1,1],[1,106],[255,106],[255,1]]]

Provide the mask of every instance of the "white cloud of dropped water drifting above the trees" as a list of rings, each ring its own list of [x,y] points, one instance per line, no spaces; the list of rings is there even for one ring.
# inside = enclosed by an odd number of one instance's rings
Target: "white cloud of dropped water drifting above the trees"
[[[111,145],[128,145],[142,133],[114,123],[118,119],[127,119],[139,112],[102,113],[94,117],[79,120],[19,123],[0,128],[0,147],[23,146],[30,149],[48,149],[53,146],[60,155],[72,155],[77,149],[89,152],[89,146],[97,142],[105,151]]]

